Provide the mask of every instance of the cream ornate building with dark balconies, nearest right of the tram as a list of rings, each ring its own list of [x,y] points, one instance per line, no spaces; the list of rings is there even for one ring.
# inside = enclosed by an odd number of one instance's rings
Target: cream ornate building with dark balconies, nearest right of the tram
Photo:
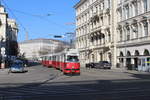
[[[112,0],[81,0],[76,9],[76,47],[80,61],[114,62]]]

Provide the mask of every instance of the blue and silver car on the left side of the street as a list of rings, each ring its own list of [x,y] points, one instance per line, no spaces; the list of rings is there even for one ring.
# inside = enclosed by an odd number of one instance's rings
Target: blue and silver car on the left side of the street
[[[10,66],[10,72],[25,72],[23,61],[15,60]]]

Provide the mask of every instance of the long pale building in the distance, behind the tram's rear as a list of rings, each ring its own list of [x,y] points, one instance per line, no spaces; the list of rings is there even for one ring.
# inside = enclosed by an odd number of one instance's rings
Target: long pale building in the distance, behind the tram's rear
[[[28,59],[37,59],[41,55],[59,52],[68,47],[62,41],[53,39],[33,39],[19,43],[20,53],[25,54]]]

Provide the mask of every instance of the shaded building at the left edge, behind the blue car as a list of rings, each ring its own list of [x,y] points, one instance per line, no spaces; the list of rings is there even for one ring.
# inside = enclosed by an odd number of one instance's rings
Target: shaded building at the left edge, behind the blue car
[[[18,53],[18,26],[16,21],[8,17],[4,6],[0,5],[0,61],[5,62],[7,57]]]

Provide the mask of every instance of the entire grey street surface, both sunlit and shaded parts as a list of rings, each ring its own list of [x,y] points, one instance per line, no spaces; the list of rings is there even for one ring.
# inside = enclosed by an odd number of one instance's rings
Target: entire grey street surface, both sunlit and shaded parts
[[[63,75],[42,65],[26,73],[0,70],[0,100],[149,100],[150,74],[118,69],[85,69]]]

